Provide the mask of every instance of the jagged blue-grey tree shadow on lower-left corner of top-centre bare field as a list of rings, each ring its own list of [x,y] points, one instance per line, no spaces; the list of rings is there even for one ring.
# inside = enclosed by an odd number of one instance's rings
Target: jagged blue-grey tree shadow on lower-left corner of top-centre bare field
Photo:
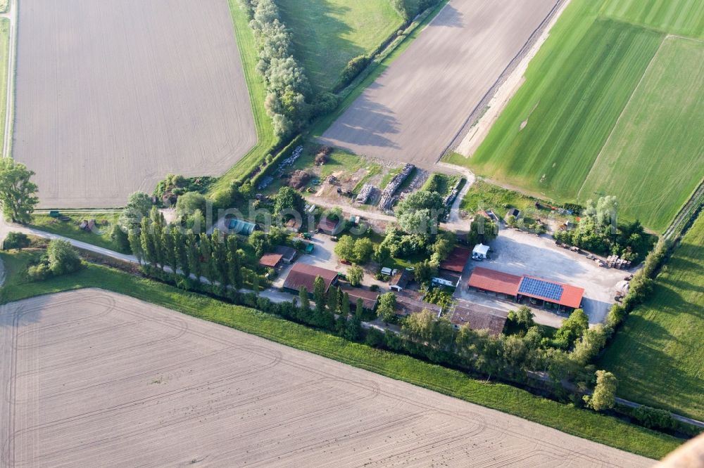
[[[369,86],[368,90],[373,91],[381,86],[375,82]],[[333,124],[331,129],[331,134],[324,136],[322,140],[325,141],[328,138],[334,140],[336,146],[340,146],[340,143],[349,143],[400,148],[397,143],[384,136],[398,134],[398,121],[394,117],[394,111],[370,100],[367,93],[359,96],[352,107]]]

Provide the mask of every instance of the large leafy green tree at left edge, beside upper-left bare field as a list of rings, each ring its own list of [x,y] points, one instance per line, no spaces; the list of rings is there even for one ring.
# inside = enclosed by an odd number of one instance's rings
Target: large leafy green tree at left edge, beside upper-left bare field
[[[37,184],[30,181],[34,172],[11,157],[0,158],[0,204],[3,214],[13,223],[29,223],[37,206]]]

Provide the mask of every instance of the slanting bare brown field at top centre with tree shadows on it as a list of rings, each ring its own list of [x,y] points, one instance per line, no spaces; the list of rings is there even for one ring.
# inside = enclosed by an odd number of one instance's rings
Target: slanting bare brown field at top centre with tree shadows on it
[[[432,167],[560,1],[451,0],[321,141]]]

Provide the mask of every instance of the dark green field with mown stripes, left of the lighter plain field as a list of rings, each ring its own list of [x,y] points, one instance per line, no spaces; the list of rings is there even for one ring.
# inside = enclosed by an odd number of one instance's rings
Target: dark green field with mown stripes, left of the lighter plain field
[[[660,41],[659,32],[596,20],[559,74],[528,78],[470,165],[573,199]]]

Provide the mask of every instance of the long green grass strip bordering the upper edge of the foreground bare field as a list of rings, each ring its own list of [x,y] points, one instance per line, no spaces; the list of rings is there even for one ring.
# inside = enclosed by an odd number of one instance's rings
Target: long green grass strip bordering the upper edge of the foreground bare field
[[[677,438],[540,398],[513,386],[480,382],[463,372],[348,342],[251,308],[183,292],[103,266],[89,265],[73,275],[28,284],[19,278],[19,272],[30,256],[28,252],[0,253],[8,273],[6,286],[0,292],[2,303],[63,290],[100,287],[646,457],[660,458],[681,443]]]

